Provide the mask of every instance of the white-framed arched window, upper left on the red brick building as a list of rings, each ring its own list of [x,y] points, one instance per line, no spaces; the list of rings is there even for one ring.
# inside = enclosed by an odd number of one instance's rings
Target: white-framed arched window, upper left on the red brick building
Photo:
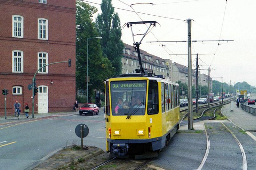
[[[23,17],[20,15],[12,16],[12,37],[23,38]]]

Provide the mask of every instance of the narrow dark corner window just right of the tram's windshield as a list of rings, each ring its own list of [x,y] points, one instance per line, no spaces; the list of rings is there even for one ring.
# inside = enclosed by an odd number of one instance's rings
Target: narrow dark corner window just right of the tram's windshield
[[[156,80],[149,80],[148,84],[148,115],[158,114],[158,84]]]

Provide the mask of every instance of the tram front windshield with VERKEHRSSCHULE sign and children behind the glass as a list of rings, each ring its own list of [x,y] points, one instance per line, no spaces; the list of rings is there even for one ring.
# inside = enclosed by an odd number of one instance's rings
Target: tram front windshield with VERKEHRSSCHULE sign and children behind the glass
[[[146,80],[110,82],[112,115],[145,115]]]

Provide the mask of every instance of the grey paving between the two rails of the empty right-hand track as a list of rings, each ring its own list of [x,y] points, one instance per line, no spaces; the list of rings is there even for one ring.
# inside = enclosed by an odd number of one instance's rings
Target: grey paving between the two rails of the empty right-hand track
[[[221,123],[205,123],[210,140],[210,152],[202,169],[243,169],[240,148],[231,133]]]

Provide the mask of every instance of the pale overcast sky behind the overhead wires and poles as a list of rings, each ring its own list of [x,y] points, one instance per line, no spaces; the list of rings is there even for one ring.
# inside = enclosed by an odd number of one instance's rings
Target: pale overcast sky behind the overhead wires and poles
[[[88,0],[101,4],[101,0]],[[255,21],[255,0],[121,0],[126,4],[135,3],[153,3],[132,5],[135,11],[159,15],[169,18],[177,18],[181,20],[161,18],[140,14],[143,21],[157,21],[161,26],[156,25],[152,29],[152,33],[142,41],[141,49],[159,56],[161,58],[169,58],[172,62],[180,64],[188,64],[187,55],[169,55],[169,54],[187,54],[187,42],[166,42],[162,43],[166,47],[161,47],[160,43],[147,43],[147,41],[187,41],[188,25],[186,20],[193,19],[191,22],[192,40],[234,40],[230,42],[195,42],[192,44],[192,54],[199,54],[199,64],[210,65],[212,69],[211,77],[223,76],[223,82],[231,83],[247,81],[250,85],[256,86],[255,80],[255,50],[256,47],[256,27]],[[113,7],[132,10],[132,8],[119,0],[112,0]],[[167,3],[167,4],[166,4]],[[89,3],[100,11],[100,5]],[[226,6],[226,11],[225,11]],[[133,10],[132,10],[133,11]],[[224,16],[225,11],[225,16]],[[141,21],[135,12],[115,9],[119,14],[121,25],[126,22]],[[223,27],[222,21],[224,17]],[[95,15],[96,18],[96,15]],[[222,27],[222,31],[221,31]],[[147,29],[144,25],[134,25],[134,34],[144,33]],[[221,34],[221,35],[220,35]],[[135,37],[137,41],[139,36]],[[157,38],[157,39],[156,39]],[[135,41],[136,41],[135,39]],[[122,40],[124,43],[132,45],[131,29],[124,27],[122,29]],[[166,52],[166,51],[167,52]],[[215,55],[200,55],[205,53],[216,53]],[[196,65],[196,55],[192,55],[192,61]],[[192,67],[193,66],[192,63]],[[206,63],[206,64],[205,64]],[[200,69],[207,69],[208,66],[199,66]],[[201,70],[201,73],[208,74],[208,70]],[[221,81],[220,78],[216,78]]]

